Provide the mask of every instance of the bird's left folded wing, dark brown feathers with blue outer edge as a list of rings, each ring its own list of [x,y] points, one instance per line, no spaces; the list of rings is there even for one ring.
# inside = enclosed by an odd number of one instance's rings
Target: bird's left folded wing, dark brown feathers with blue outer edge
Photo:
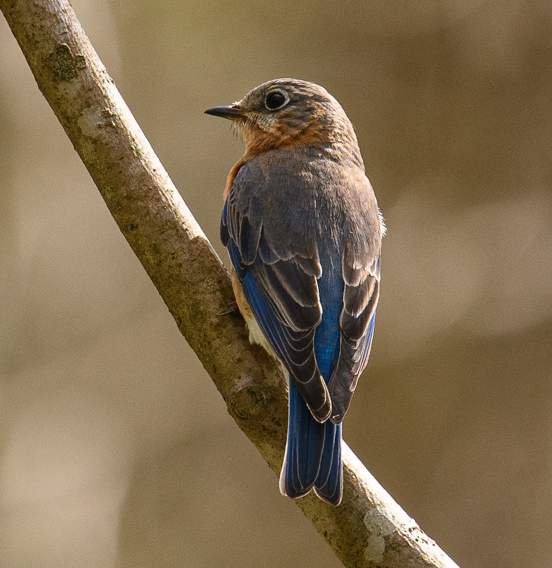
[[[322,318],[318,259],[272,247],[260,220],[244,215],[232,198],[230,192],[222,213],[222,242],[261,331],[284,361],[310,412],[323,422],[330,416],[331,403],[313,348]]]

